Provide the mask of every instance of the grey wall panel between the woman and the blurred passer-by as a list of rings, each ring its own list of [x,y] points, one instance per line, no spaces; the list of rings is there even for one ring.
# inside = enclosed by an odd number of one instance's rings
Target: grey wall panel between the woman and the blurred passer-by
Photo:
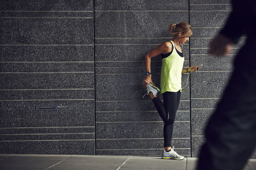
[[[203,64],[201,71],[191,74],[191,156],[196,157],[204,141],[204,127],[232,73],[232,54],[217,59],[207,55],[211,38],[225,23],[231,6],[229,1],[196,1],[189,5],[193,36],[190,41],[191,66]]]

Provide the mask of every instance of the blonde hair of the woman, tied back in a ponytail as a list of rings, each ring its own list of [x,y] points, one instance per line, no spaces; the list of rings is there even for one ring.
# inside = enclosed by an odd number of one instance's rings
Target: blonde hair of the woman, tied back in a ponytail
[[[169,31],[173,38],[176,38],[179,35],[179,32],[181,32],[180,37],[191,36],[193,34],[191,25],[186,22],[180,22],[179,24],[170,24]]]

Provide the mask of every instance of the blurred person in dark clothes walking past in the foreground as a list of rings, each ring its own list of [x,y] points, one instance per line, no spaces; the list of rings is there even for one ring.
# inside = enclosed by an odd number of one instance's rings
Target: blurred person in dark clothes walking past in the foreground
[[[223,57],[242,35],[244,46],[220,103],[205,128],[198,170],[243,169],[256,145],[256,1],[233,0],[232,13],[209,45],[209,55]]]

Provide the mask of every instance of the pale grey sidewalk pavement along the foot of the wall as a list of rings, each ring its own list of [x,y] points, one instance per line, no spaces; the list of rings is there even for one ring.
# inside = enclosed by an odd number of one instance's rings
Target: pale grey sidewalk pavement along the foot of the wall
[[[172,169],[193,170],[196,158],[163,160],[160,157],[103,156],[103,155],[1,155],[1,170],[36,169]],[[256,159],[248,160],[244,170],[256,169]]]

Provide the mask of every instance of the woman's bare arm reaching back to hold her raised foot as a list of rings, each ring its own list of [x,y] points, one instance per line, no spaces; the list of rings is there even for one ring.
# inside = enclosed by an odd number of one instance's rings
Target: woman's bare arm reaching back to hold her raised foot
[[[168,53],[172,51],[172,44],[170,41],[166,41],[163,44],[157,46],[153,50],[151,50],[147,55],[145,56],[145,66],[146,66],[146,72],[151,73],[151,58],[156,57],[160,53]],[[147,86],[148,83],[152,82],[152,74],[149,74],[146,76],[146,78],[143,80],[143,83]]]

